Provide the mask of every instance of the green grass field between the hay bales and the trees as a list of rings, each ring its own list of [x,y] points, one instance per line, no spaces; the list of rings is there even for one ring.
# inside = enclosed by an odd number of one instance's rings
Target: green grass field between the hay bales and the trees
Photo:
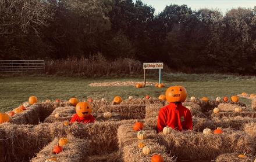
[[[127,98],[134,97],[158,97],[163,94],[166,88],[157,89],[145,87],[136,89],[134,86],[123,87],[90,87],[93,82],[114,82],[125,80],[143,81],[141,78],[71,78],[62,76],[1,76],[0,77],[0,111],[6,112],[16,108],[22,102],[27,101],[30,95],[36,95],[39,101],[47,99],[68,100],[70,97],[77,97],[86,100],[92,97],[94,100],[102,97],[112,100],[115,95]],[[157,79],[148,79],[157,82]],[[232,75],[187,75],[187,74],[164,74],[163,83],[166,86],[183,85],[186,87],[189,97],[230,97],[242,92],[256,93],[256,77],[253,76],[232,76]],[[251,101],[241,99],[250,107]]]

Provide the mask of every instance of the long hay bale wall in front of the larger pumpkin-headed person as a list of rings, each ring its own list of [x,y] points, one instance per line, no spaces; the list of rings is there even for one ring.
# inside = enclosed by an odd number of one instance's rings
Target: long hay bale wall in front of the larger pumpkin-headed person
[[[254,139],[243,131],[226,131],[219,135],[204,135],[195,131],[175,131],[168,135],[159,134],[160,143],[168,153],[179,160],[211,160],[221,153],[255,152]]]

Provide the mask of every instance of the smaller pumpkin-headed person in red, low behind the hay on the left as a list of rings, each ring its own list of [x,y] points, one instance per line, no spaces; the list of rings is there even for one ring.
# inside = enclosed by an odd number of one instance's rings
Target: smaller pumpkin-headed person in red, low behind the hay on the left
[[[79,102],[76,105],[76,114],[70,119],[70,123],[94,123],[95,119],[91,115],[91,105],[88,102]]]

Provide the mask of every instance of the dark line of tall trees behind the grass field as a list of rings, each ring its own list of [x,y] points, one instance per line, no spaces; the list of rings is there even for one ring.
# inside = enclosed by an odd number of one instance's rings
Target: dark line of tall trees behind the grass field
[[[256,73],[256,6],[159,14],[132,0],[0,0],[0,60],[89,57],[184,72]]]

